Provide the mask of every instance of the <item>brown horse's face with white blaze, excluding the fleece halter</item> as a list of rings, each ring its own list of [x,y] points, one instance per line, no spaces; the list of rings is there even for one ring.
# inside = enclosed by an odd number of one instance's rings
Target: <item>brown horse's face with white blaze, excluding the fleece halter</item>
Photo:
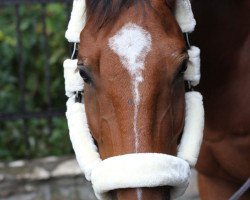
[[[188,56],[171,11],[173,2],[86,1],[78,68],[86,82],[89,128],[102,159],[129,153],[177,153]],[[120,189],[114,196],[162,200],[169,199],[169,189]]]

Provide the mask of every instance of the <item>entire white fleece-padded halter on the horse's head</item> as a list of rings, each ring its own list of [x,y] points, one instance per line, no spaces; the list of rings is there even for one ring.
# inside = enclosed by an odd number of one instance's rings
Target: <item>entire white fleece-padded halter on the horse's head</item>
[[[176,19],[183,33],[193,32],[194,19],[189,0],[177,0]],[[80,42],[80,32],[85,26],[85,1],[74,0],[66,38],[74,43],[71,59],[64,62],[64,77],[70,139],[77,161],[87,180],[93,184],[98,199],[109,200],[109,191],[122,188],[173,186],[171,197],[181,196],[189,183],[190,167],[194,166],[200,151],[204,128],[202,96],[198,92],[185,94],[186,116],[177,156],[159,153],[126,154],[101,160],[90,130],[85,107],[79,99],[84,81],[77,72],[75,50]],[[191,86],[200,81],[200,50],[191,46],[184,78]],[[131,164],[133,163],[133,164]]]

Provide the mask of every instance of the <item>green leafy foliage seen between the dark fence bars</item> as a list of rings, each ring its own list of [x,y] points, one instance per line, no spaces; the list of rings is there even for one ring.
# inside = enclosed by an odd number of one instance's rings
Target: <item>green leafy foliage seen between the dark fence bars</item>
[[[18,112],[20,109],[19,63],[15,7],[0,8],[0,112]],[[68,9],[64,4],[46,6],[46,30],[50,66],[50,90],[54,108],[65,109],[62,62],[68,54],[64,32],[68,21]],[[27,111],[47,110],[48,96],[45,81],[45,38],[43,37],[42,6],[38,4],[20,7],[22,58],[25,67],[25,106]],[[30,147],[23,135],[23,121],[0,121],[0,160],[42,157],[72,153],[65,117],[52,119],[49,134],[48,120],[27,120]],[[27,150],[28,149],[28,150]]]

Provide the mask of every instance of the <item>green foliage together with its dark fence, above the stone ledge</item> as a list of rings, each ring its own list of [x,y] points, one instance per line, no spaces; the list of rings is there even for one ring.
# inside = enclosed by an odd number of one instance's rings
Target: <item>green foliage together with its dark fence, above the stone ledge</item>
[[[1,160],[72,153],[62,67],[71,2],[0,1]]]

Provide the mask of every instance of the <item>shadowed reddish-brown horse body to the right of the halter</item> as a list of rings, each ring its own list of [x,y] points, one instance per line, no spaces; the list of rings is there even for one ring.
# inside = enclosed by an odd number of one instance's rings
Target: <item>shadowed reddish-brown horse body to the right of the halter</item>
[[[206,112],[202,200],[229,199],[250,177],[250,1],[193,0]],[[250,199],[250,191],[241,199]]]

